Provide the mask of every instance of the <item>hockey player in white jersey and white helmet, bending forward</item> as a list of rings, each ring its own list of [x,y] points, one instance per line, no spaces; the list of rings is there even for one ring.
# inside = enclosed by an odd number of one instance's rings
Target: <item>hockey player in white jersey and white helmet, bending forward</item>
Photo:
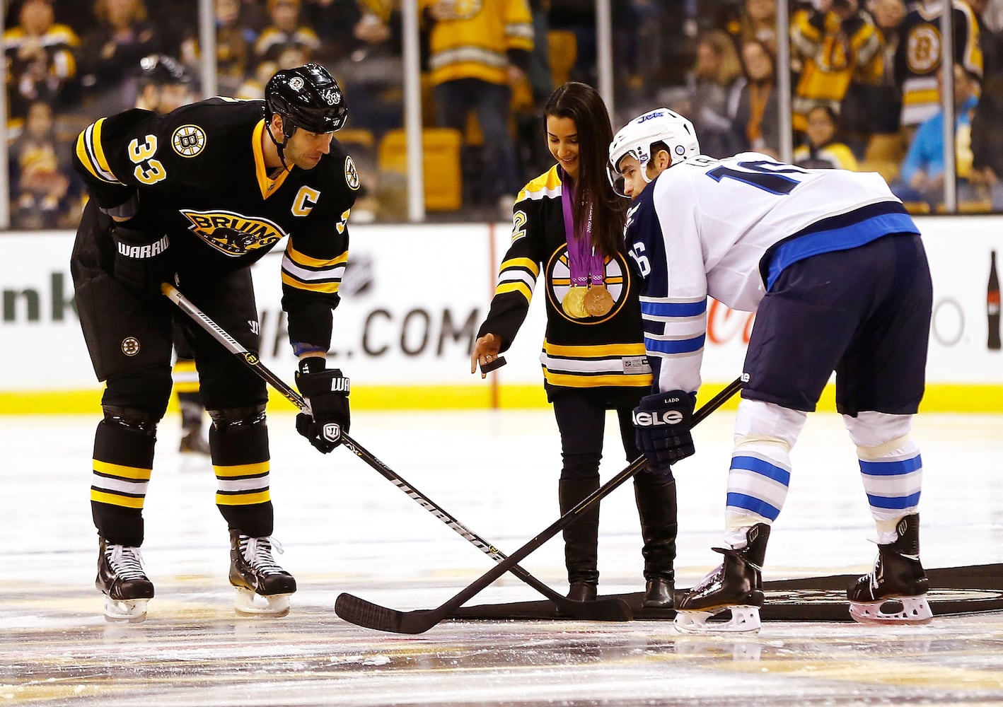
[[[707,298],[756,312],[735,419],[724,558],[677,601],[684,632],[755,632],[770,525],[790,448],[829,376],[878,528],[874,570],[848,588],[863,623],[931,621],[919,559],[923,463],[910,438],[925,386],[932,285],[920,234],[877,173],[803,169],[764,154],[700,154],[693,125],[658,108],[610,144],[610,180],[634,200],[629,253],[654,393],[635,411],[654,462],[693,453]],[[657,179],[656,179],[657,178]],[[647,413],[647,414],[638,414]],[[708,619],[730,611],[727,621]],[[719,617],[724,618],[724,617]]]

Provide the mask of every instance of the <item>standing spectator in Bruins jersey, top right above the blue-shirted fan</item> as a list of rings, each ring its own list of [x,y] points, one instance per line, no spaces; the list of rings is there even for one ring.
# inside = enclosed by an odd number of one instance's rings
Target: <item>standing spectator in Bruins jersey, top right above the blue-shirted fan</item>
[[[946,0],[917,0],[902,22],[902,40],[895,55],[896,82],[902,89],[901,124],[911,140],[917,126],[940,110],[938,77],[941,48],[940,16]],[[952,0],[954,63],[979,79],[983,57],[979,21],[962,0]]]

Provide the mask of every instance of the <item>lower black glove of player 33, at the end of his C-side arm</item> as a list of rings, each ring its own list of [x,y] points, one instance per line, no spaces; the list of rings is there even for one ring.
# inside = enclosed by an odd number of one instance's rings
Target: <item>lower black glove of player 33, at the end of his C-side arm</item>
[[[325,369],[321,356],[300,359],[296,372],[296,386],[310,403],[313,412],[296,416],[296,431],[325,454],[341,444],[342,432],[348,432],[348,378],[341,369]]]

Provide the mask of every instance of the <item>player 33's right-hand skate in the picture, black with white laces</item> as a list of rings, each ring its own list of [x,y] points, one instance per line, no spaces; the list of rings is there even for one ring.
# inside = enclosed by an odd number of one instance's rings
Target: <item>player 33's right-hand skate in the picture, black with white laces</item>
[[[271,538],[249,538],[240,531],[230,531],[230,584],[237,588],[235,608],[238,614],[285,616],[289,597],[296,591],[296,580],[276,565]]]

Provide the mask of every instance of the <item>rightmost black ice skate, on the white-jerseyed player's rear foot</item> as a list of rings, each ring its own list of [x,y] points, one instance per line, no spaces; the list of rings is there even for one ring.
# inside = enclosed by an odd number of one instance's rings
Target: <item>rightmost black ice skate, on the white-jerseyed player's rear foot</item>
[[[875,569],[847,589],[850,616],[862,624],[929,624],[930,582],[920,565],[920,515],[906,515],[895,543],[878,546]]]

